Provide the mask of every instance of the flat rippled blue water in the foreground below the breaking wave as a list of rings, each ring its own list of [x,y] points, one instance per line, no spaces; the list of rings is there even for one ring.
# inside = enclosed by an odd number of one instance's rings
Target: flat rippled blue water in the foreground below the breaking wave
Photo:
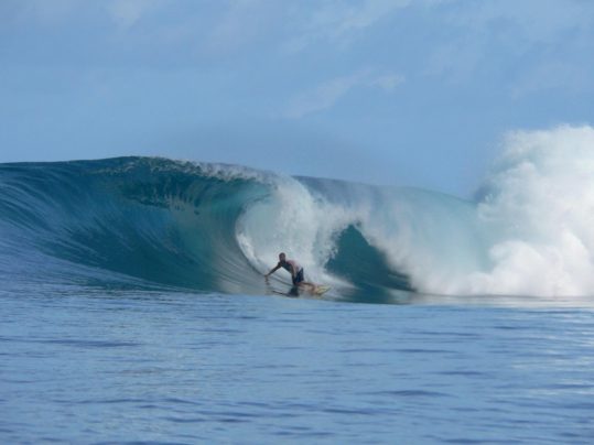
[[[3,443],[592,443],[592,308],[0,291]]]

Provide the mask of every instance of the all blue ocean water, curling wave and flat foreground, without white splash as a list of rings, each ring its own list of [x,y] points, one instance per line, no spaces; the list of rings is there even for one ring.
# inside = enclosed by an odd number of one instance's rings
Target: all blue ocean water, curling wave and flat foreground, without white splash
[[[496,267],[476,203],[279,181],[2,164],[0,442],[594,442],[592,297],[452,292]],[[281,247],[332,290],[267,284]]]

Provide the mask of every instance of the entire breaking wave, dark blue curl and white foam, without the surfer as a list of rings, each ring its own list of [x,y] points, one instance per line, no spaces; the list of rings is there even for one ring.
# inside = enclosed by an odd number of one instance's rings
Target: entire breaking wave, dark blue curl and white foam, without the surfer
[[[518,132],[474,200],[152,158],[0,165],[0,274],[266,293],[591,295],[594,130]],[[285,290],[289,276],[271,286]]]

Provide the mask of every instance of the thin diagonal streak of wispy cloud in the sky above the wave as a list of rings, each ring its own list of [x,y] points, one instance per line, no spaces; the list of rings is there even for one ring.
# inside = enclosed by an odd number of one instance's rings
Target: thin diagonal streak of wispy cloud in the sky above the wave
[[[287,107],[284,116],[291,119],[299,119],[306,115],[332,108],[341,98],[355,88],[379,88],[386,93],[391,93],[403,82],[404,77],[401,75],[377,74],[371,69],[337,77],[303,91],[293,98]]]

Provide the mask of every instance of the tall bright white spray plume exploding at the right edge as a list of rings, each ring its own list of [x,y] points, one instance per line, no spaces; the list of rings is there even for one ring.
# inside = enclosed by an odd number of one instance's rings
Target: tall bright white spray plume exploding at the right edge
[[[517,131],[477,205],[497,227],[492,267],[453,292],[592,295],[594,292],[594,129]]]

